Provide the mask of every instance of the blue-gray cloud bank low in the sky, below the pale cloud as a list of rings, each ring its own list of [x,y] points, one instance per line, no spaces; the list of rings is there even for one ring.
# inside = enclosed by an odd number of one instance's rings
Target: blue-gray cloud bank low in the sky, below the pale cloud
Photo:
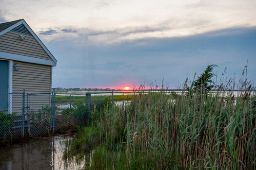
[[[53,87],[139,85],[162,79],[170,88],[193,78],[208,64],[217,64],[218,80],[227,67],[227,77],[241,77],[246,60],[248,78],[256,80],[256,28],[230,28],[175,38],[143,38],[102,46],[79,46],[70,39],[46,44],[58,59]],[[78,39],[81,39],[79,37]],[[73,40],[72,40],[73,42]],[[78,41],[79,42],[79,41]],[[138,44],[141,44],[138,46]],[[72,57],[71,57],[72,56]]]

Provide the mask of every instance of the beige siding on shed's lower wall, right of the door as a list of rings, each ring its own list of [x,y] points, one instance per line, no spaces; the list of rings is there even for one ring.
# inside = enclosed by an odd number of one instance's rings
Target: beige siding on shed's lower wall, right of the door
[[[42,93],[51,91],[51,74],[52,67],[24,63],[19,61],[13,61],[13,63],[18,64],[19,70],[13,70],[13,93],[22,93],[25,89],[26,93]],[[30,100],[30,110],[38,112],[38,109],[42,106],[50,105],[51,95],[31,95]],[[25,100],[25,106],[27,102]],[[13,113],[21,113],[22,108],[22,96],[13,95]]]

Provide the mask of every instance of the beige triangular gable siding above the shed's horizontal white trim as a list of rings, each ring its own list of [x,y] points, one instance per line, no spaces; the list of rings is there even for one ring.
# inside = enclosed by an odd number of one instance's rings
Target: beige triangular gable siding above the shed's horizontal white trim
[[[0,51],[51,60],[33,36],[25,37],[25,40],[20,40],[20,34],[13,31],[1,35]]]

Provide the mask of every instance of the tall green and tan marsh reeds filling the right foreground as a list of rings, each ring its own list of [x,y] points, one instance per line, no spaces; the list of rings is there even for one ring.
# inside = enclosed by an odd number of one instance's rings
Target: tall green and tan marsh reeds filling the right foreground
[[[105,105],[66,153],[94,148],[91,169],[256,169],[256,94],[145,94]],[[143,88],[143,87],[141,87]],[[72,153],[73,152],[73,153]]]

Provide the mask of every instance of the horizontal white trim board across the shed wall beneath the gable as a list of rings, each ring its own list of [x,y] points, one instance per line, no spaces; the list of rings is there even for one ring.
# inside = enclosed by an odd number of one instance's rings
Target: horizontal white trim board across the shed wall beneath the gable
[[[56,66],[56,63],[53,60],[46,60],[46,59],[41,59],[41,58],[29,57],[29,56],[25,56],[25,55],[12,54],[12,53],[8,53],[8,52],[0,51],[0,58],[8,59],[8,60],[22,61],[22,62],[27,62],[27,63],[36,63],[36,64],[42,64],[42,65],[48,65],[48,66]]]

